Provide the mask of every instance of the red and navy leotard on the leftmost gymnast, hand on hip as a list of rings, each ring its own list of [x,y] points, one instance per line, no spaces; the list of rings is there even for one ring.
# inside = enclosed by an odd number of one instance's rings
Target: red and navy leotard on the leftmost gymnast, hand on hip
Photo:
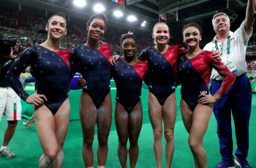
[[[31,46],[14,62],[6,75],[6,79],[19,97],[26,101],[29,94],[24,90],[18,77],[30,65],[36,80],[37,94],[46,96],[48,101],[44,101],[44,104],[54,115],[60,105],[68,99],[69,58],[70,51],[67,49],[53,52],[41,45]]]

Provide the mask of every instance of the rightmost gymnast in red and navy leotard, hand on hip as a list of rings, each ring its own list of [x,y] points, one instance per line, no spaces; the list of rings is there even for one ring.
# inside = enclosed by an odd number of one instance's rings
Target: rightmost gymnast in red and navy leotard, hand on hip
[[[182,30],[183,41],[188,47],[186,54],[178,58],[176,86],[181,83],[180,109],[184,126],[189,133],[188,144],[193,153],[195,166],[207,167],[207,156],[203,149],[203,136],[207,131],[213,103],[220,100],[231,88],[236,78],[211,52],[199,47],[202,29],[191,22]],[[212,68],[224,78],[220,89],[209,94],[209,81]]]

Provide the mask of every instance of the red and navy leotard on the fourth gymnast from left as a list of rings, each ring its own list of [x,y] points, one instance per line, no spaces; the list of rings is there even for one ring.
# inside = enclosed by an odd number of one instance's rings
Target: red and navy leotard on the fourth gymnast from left
[[[164,54],[159,53],[153,46],[146,48],[138,59],[148,63],[148,76],[150,77],[149,91],[152,92],[159,103],[164,101],[175,92],[175,73],[177,59],[187,50],[178,45],[169,45]]]

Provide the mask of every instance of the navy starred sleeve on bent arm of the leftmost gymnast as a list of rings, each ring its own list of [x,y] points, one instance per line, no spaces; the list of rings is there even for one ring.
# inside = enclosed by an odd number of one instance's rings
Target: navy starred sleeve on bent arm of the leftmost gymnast
[[[27,98],[29,97],[29,94],[24,90],[22,86],[22,82],[19,80],[19,75],[28,67],[33,60],[33,56],[36,53],[34,53],[31,48],[28,48],[25,50],[16,60],[9,71],[6,74],[6,79],[10,83],[12,89],[18,94],[22,100],[26,102]]]

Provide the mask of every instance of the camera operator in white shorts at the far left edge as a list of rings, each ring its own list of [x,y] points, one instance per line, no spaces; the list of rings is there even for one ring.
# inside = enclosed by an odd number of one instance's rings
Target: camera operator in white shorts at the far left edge
[[[4,142],[0,149],[0,156],[10,158],[16,155],[10,152],[7,146],[15,132],[18,124],[17,121],[22,119],[22,105],[20,104],[20,98],[5,79],[8,70],[17,60],[16,56],[18,56],[18,52],[20,51],[20,39],[16,36],[11,36],[8,39],[16,40],[16,44],[12,47],[10,46],[10,54],[0,54],[0,121],[4,112],[8,121],[8,127],[4,134]]]

